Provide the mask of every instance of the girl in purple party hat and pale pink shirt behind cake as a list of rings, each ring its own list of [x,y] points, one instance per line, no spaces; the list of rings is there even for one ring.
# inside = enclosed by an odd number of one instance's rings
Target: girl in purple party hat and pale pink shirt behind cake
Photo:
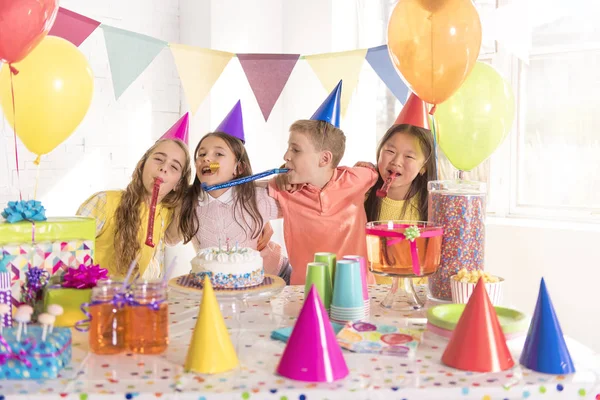
[[[226,121],[231,121],[232,113],[237,113],[238,121],[228,124]],[[169,228],[169,243],[181,239],[184,243],[191,241],[197,252],[207,247],[225,246],[227,242],[232,247],[258,250],[263,257],[265,273],[279,275],[289,283],[291,267],[281,247],[268,242],[261,248],[259,243],[263,229],[270,230],[268,221],[281,218],[279,206],[269,197],[267,189],[254,182],[210,192],[202,189],[202,184],[211,186],[252,175],[244,147],[239,103],[216,132],[208,133],[200,140],[194,150],[194,160],[196,177],[178,213],[177,227]],[[216,171],[210,168],[213,163],[219,164]]]

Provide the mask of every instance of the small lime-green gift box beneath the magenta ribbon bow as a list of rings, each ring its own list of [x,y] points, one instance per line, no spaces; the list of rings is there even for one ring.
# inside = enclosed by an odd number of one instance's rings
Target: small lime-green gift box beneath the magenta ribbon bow
[[[55,326],[73,327],[78,321],[86,319],[81,311],[81,305],[92,299],[92,289],[63,288],[60,285],[50,285],[44,293],[44,309],[50,304],[58,304],[64,310],[56,317]]]

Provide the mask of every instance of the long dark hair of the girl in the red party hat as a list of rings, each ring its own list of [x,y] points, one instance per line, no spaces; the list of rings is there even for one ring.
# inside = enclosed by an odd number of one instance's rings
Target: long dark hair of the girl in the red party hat
[[[383,146],[390,140],[395,134],[405,133],[414,136],[419,140],[421,145],[421,151],[425,155],[425,173],[423,175],[417,174],[417,177],[412,181],[404,200],[411,199],[413,196],[418,195],[418,211],[419,219],[421,221],[427,220],[427,182],[437,179],[437,170],[435,167],[435,156],[433,154],[433,134],[429,129],[420,128],[418,126],[409,124],[393,125],[381,138],[381,142],[377,147],[377,160]],[[367,213],[368,221],[377,221],[379,219],[379,211],[381,210],[381,197],[377,197],[377,190],[383,186],[383,178],[381,174],[377,178],[377,182],[371,188],[365,200],[365,211]],[[406,213],[410,202],[405,201],[402,206],[402,214]]]

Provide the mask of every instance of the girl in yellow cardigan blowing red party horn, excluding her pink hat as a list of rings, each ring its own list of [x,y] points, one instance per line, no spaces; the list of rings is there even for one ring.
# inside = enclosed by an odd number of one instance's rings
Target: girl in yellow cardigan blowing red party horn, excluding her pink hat
[[[87,199],[77,214],[96,219],[94,262],[108,269],[112,278],[119,278],[137,259],[137,273],[142,279],[162,277],[165,232],[183,200],[190,176],[187,145],[177,139],[161,139],[144,153],[125,190],[99,192]],[[156,178],[162,184],[154,217],[156,245],[150,247],[145,239]]]

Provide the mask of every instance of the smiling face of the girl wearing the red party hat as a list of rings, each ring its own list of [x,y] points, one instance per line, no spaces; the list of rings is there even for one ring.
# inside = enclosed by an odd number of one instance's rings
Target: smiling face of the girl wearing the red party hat
[[[404,198],[417,174],[425,172],[424,164],[425,156],[416,137],[398,132],[389,138],[381,147],[377,169],[384,181],[396,176],[388,191],[390,197]]]

